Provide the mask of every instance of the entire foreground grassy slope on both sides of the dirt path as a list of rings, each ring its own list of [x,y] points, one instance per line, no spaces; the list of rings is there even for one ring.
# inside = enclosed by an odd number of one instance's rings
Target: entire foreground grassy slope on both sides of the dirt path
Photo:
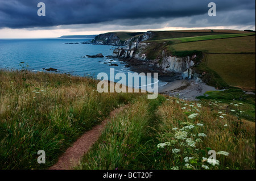
[[[202,164],[211,169],[255,169],[255,123],[243,120],[240,128],[237,117],[220,118],[222,114],[217,112],[225,104],[202,102],[199,106],[161,95],[147,99],[141,93],[100,94],[97,81],[65,74],[28,73],[23,81],[24,72],[0,71],[0,78],[2,169],[46,169],[80,134],[100,123],[114,107],[128,102],[130,107],[108,123],[77,169],[186,169],[186,156],[196,158],[191,162],[196,169]],[[196,112],[199,117],[188,119]],[[196,144],[199,150],[185,149],[181,140],[171,141],[177,140],[172,128],[182,128],[184,122],[196,126],[188,132],[207,133]],[[197,137],[188,135],[193,140]],[[167,141],[174,145],[157,147]],[[171,153],[174,148],[181,150],[179,157]],[[46,151],[46,165],[36,161],[41,149]],[[209,149],[228,151],[230,157],[224,160],[217,155],[221,165],[210,166],[201,162]]]

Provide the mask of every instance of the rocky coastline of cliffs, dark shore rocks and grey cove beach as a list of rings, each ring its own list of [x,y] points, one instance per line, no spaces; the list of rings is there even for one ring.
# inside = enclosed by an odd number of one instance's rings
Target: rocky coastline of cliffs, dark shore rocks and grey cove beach
[[[153,31],[148,31],[142,35],[121,40],[116,33],[105,33],[96,36],[92,42],[118,46],[113,50],[112,57],[126,62],[126,67],[133,71],[158,72],[159,79],[168,82],[159,89],[163,94],[174,96],[180,92],[183,98],[195,100],[196,96],[203,95],[205,91],[217,90],[204,82],[203,77],[207,73],[200,74],[194,69],[194,66],[203,58],[203,54],[195,52],[187,56],[175,56],[162,49],[152,57],[150,53],[154,51],[152,49],[154,46],[148,40],[154,36]]]

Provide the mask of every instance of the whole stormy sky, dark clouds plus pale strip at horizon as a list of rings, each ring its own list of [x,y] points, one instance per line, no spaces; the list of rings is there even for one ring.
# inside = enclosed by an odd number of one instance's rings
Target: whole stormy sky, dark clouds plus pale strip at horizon
[[[39,2],[46,16],[38,16]],[[217,15],[208,15],[208,3]],[[108,31],[223,27],[255,30],[254,0],[0,0],[0,37],[10,32],[94,34]],[[58,31],[59,30],[59,31]],[[22,33],[20,33],[22,36]]]

